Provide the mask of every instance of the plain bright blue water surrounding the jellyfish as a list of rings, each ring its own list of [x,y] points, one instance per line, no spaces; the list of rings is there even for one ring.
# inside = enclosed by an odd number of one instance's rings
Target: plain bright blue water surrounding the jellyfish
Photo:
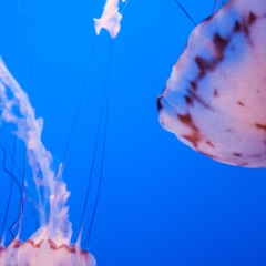
[[[196,22],[209,16],[214,4],[181,2]],[[33,80],[37,116],[44,119],[42,140],[57,163],[65,152],[95,40],[92,19],[101,16],[103,4],[104,0],[21,0],[22,27],[17,1],[0,2],[0,54],[31,101]],[[214,162],[157,122],[156,96],[193,28],[174,0],[130,0],[123,10],[113,42],[103,182],[90,242],[99,266],[266,264],[266,172]],[[71,191],[73,242],[110,44],[102,31],[63,176]],[[0,178],[2,223],[9,177],[1,172]],[[14,190],[9,223],[18,214],[18,195]],[[33,208],[27,212],[23,239],[35,226]]]

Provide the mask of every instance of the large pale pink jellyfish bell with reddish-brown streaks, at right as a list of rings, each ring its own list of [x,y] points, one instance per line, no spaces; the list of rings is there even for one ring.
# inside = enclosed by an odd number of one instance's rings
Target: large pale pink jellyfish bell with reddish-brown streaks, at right
[[[225,164],[266,167],[266,2],[231,0],[198,24],[157,98],[161,125]]]

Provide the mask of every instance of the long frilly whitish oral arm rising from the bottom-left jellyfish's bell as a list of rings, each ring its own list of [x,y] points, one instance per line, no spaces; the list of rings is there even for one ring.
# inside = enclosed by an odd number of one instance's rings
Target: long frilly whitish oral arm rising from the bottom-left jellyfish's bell
[[[11,98],[8,98],[8,91]],[[35,119],[34,110],[27,93],[20,88],[0,58],[0,101],[1,119],[17,125],[17,136],[25,143],[29,165],[32,170],[32,182],[38,198],[32,201],[38,206],[41,228],[34,236],[41,239],[51,238],[55,243],[70,242],[72,229],[68,219],[65,202],[70,195],[65,184],[55,178],[52,170],[52,156],[41,142],[43,120]],[[14,110],[19,110],[19,114]],[[42,187],[45,193],[40,193]]]

